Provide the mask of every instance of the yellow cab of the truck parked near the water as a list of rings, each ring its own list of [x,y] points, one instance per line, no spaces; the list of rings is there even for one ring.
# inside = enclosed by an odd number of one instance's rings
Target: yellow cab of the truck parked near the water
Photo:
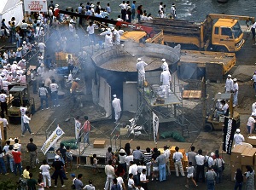
[[[212,27],[212,46],[220,52],[239,51],[245,43],[238,20],[218,19]]]

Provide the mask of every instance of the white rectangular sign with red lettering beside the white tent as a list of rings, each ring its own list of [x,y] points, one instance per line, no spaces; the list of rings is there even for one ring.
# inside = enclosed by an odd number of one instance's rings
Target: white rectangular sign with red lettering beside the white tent
[[[46,0],[24,0],[24,9],[28,12],[47,12]]]

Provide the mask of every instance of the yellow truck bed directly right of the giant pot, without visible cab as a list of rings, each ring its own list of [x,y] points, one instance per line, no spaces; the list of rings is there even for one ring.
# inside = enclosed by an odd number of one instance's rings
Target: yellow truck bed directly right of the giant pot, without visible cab
[[[223,75],[235,65],[235,53],[182,50],[177,69],[183,79],[205,77],[209,81],[222,82]]]

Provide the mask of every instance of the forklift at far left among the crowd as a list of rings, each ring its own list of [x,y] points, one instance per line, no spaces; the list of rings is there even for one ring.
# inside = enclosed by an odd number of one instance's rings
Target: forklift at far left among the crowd
[[[20,123],[20,107],[26,107],[27,112],[35,112],[34,98],[30,98],[28,89],[25,86],[14,86],[9,89],[8,117],[9,123]]]

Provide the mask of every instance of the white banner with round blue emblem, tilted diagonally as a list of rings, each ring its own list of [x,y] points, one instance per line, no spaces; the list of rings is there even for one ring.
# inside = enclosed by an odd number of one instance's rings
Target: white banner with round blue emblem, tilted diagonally
[[[49,136],[49,138],[44,142],[43,147],[41,148],[41,151],[44,153],[44,155],[47,153],[50,147],[52,147],[58,139],[60,139],[61,135],[64,135],[64,131],[61,130],[59,125],[55,129],[55,131],[52,132],[52,134]]]

